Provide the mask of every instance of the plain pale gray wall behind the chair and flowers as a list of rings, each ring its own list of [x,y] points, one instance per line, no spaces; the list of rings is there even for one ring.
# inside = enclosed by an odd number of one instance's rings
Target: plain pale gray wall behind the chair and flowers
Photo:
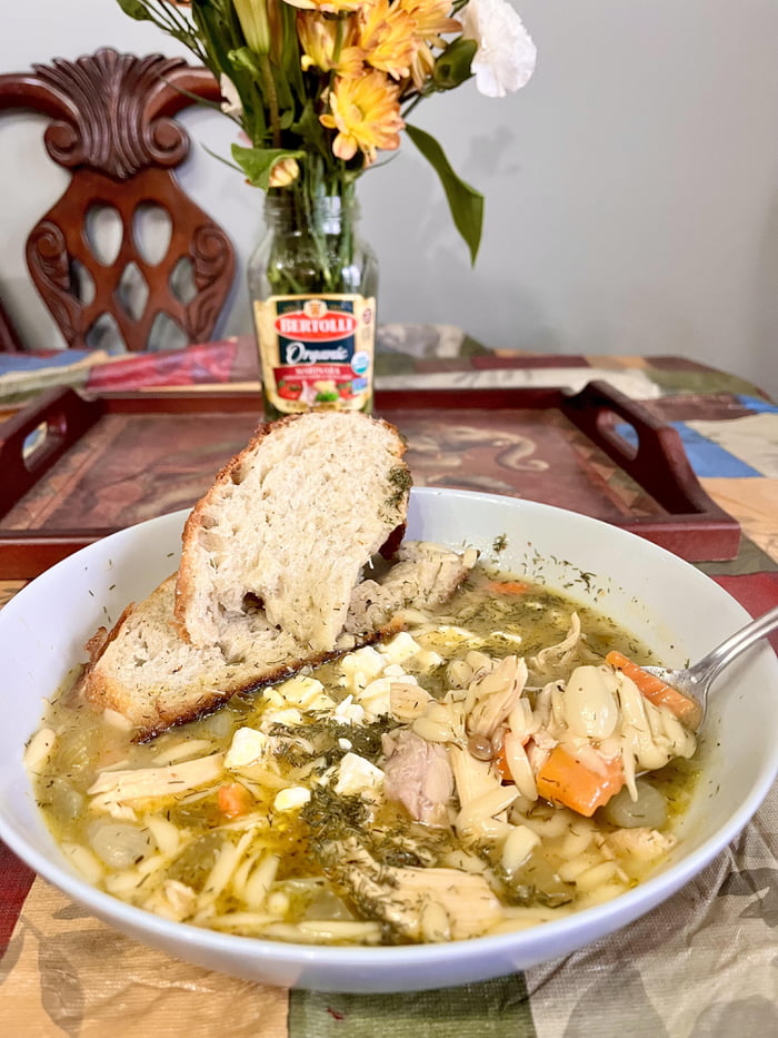
[[[457,324],[515,349],[681,354],[778,395],[778,0],[517,8],[539,50],[529,86],[492,100],[469,83],[416,112],[486,195],[475,269],[410,141],[361,181],[379,318]],[[112,0],[26,0],[3,24],[0,71],[102,45],[181,52]],[[229,150],[228,120],[200,111],[187,125]],[[0,293],[27,337],[51,344],[23,246],[63,175],[29,118],[0,118]],[[186,181],[245,261],[259,192],[202,148]],[[222,330],[249,327],[241,270]]]

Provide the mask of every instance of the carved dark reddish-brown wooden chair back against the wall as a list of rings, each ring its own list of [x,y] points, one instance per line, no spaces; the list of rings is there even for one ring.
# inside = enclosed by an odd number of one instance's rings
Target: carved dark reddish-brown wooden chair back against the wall
[[[198,99],[218,103],[211,73],[161,55],[102,49],[0,76],[0,110],[48,117],[47,151],[71,175],[26,250],[70,347],[140,352],[211,337],[235,254],[174,174],[189,137],[172,116]]]

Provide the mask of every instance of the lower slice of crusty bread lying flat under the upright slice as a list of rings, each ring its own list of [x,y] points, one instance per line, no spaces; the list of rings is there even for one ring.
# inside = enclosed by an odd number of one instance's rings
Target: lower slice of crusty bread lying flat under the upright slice
[[[473,551],[459,555],[427,542],[409,541],[377,581],[352,590],[351,607],[330,651],[313,650],[270,623],[258,606],[233,616],[222,646],[197,647],[182,636],[173,615],[176,574],[137,605],[113,630],[89,644],[77,694],[127,718],[142,741],[209,713],[237,692],[252,692],[401,629],[405,609],[423,609],[450,597],[470,572]]]

